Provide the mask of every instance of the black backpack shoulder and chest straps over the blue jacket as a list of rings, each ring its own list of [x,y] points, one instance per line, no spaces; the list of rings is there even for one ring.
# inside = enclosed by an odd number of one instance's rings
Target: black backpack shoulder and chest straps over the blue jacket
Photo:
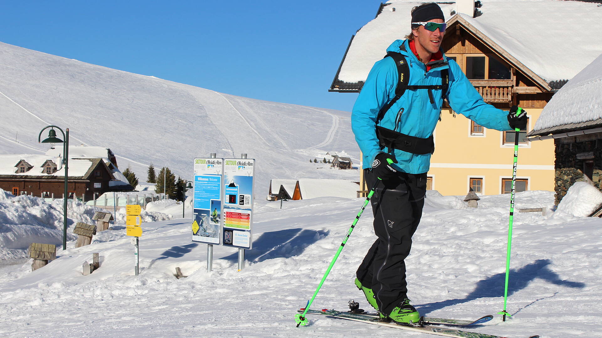
[[[385,113],[402,97],[403,93],[405,93],[406,89],[415,90],[415,89],[426,89],[429,90],[429,100],[430,103],[435,103],[435,98],[433,97],[433,89],[443,91],[443,99],[447,99],[445,93],[447,93],[447,88],[449,87],[449,73],[448,69],[441,70],[441,84],[440,85],[408,85],[410,79],[410,69],[408,67],[408,61],[401,53],[397,52],[388,52],[385,55],[386,57],[391,57],[395,61],[395,65],[397,66],[397,74],[399,74],[399,81],[397,81],[397,87],[395,88],[395,97],[391,99],[386,105],[380,108],[378,116],[376,118],[376,124],[385,117]],[[439,120],[441,120],[441,115],[439,114]]]

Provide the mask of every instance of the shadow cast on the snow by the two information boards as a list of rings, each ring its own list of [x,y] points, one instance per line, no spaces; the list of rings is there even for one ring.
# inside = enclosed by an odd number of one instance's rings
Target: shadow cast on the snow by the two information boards
[[[327,230],[301,228],[264,232],[253,241],[253,248],[244,252],[244,259],[257,263],[266,259],[297,256],[318,239],[326,237],[328,233]],[[237,262],[238,252],[222,259]]]

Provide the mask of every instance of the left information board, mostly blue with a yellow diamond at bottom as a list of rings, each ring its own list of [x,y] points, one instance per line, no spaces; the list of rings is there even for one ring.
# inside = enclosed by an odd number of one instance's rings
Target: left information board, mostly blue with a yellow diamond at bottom
[[[194,159],[192,241],[220,244],[222,233],[222,158]]]

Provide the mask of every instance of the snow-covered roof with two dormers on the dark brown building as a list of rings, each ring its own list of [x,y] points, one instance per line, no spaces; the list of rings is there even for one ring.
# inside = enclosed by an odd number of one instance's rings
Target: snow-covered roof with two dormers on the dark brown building
[[[16,170],[14,165],[20,160],[25,160],[27,163],[33,165],[33,168],[25,171],[25,173],[15,173]],[[60,170],[55,171],[53,174],[46,174],[42,165],[46,160],[52,160],[55,163],[60,163],[58,158],[51,157],[48,155],[22,155],[22,154],[10,154],[0,155],[0,175],[16,175],[16,176],[63,176],[64,167],[60,167]],[[82,177],[88,173],[88,170],[95,165],[92,159],[69,159],[69,177]]]

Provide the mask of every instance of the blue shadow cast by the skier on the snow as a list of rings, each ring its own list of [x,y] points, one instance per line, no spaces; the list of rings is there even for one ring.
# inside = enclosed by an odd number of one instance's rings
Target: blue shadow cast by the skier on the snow
[[[510,270],[508,280],[508,296],[519,290],[524,289],[535,278],[542,278],[556,285],[568,287],[585,287],[585,283],[579,281],[568,281],[560,279],[556,272],[551,271],[548,265],[551,260],[538,259],[533,263],[523,266],[518,270]],[[427,314],[444,307],[454,306],[456,304],[467,303],[477,298],[502,297],[504,295],[504,284],[506,283],[506,273],[492,275],[485,280],[479,281],[473,292],[469,293],[464,299],[445,300],[435,303],[422,304],[416,306],[421,314]]]

